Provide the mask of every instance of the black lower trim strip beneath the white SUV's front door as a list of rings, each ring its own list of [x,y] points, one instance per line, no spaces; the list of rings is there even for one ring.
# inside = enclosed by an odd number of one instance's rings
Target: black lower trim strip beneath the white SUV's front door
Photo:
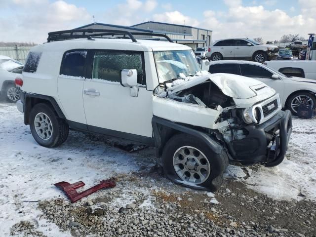
[[[152,137],[145,137],[141,135],[136,135],[136,134],[131,134],[131,133],[126,133],[126,132],[120,132],[120,131],[115,131],[107,128],[101,128],[101,127],[96,127],[96,126],[91,126],[87,125],[88,131],[93,132],[93,133],[98,133],[98,134],[104,134],[108,135],[111,137],[118,137],[122,138],[125,140],[130,140],[130,141],[135,141],[139,143],[143,143],[149,146],[154,145],[154,139]]]

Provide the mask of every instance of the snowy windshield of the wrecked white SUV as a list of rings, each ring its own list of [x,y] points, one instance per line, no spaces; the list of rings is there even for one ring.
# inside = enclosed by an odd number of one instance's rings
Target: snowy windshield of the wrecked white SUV
[[[154,57],[160,83],[201,71],[192,50],[155,51]]]

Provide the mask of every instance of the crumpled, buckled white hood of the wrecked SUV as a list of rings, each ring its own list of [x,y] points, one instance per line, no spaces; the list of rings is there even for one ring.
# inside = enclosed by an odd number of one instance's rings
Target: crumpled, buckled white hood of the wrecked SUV
[[[253,86],[255,86],[256,88],[260,87],[259,85],[262,85],[262,87],[268,87],[266,84],[256,79],[233,74],[218,73],[207,74],[192,79],[176,80],[174,81],[175,83],[173,83],[172,86],[169,86],[167,88],[167,91],[169,93],[176,93],[178,91],[203,83],[207,80],[213,81],[225,95],[236,99],[249,99],[256,96],[258,92],[257,90],[251,88]]]

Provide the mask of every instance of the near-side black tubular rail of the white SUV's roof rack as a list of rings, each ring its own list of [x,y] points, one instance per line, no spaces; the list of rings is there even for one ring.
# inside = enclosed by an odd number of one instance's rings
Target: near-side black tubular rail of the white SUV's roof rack
[[[86,35],[86,33],[95,33],[99,34],[90,34]],[[82,33],[75,34],[74,33]],[[59,41],[59,40],[71,40],[71,39],[79,39],[79,38],[88,38],[91,39],[93,36],[102,36],[102,35],[127,35],[133,42],[137,42],[134,36],[128,31],[119,31],[119,30],[105,30],[105,29],[78,29],[78,30],[68,30],[68,31],[56,31],[48,33],[47,42],[51,41]]]

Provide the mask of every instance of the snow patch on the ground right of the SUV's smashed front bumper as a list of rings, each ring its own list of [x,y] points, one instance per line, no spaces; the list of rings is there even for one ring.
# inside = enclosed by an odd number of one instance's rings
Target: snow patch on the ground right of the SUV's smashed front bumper
[[[316,200],[316,118],[293,117],[293,132],[283,162],[273,168],[255,167],[246,168],[248,178],[238,166],[230,165],[226,172],[250,189],[278,200]]]

